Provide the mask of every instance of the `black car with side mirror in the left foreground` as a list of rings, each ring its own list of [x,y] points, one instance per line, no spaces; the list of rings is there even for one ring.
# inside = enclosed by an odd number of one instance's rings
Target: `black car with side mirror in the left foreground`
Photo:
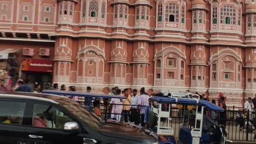
[[[0,92],[0,143],[157,143],[139,127],[103,121],[57,95]]]

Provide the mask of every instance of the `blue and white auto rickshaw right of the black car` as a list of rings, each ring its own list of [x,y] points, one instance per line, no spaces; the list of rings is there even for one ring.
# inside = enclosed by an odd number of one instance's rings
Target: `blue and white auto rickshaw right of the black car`
[[[206,108],[207,110],[214,110],[214,111],[223,111],[224,109],[214,105],[205,100],[200,100],[199,98],[194,97],[195,94],[186,93],[186,94],[177,94],[170,93],[165,97],[156,97],[153,96],[151,98],[151,108],[150,108],[150,116],[149,116],[149,127],[150,130],[157,135],[158,143],[159,144],[206,144],[210,143],[210,134],[202,132],[202,125],[203,125],[203,111]],[[167,108],[163,108],[166,107]],[[177,105],[179,109],[188,109],[192,110],[195,109],[195,127],[190,129],[189,122],[185,123],[183,117],[183,124],[180,125],[180,133],[179,133],[179,141],[177,141],[174,137],[174,130],[171,127],[170,123],[172,119],[170,118],[170,113],[172,109],[172,105]],[[152,116],[154,115],[154,116]],[[161,123],[161,119],[166,119],[167,124],[163,125]],[[154,122],[156,123],[154,124]],[[223,131],[226,129],[222,129],[221,127],[217,127],[220,129],[222,138],[221,144],[232,142],[226,140],[226,135],[223,134]]]

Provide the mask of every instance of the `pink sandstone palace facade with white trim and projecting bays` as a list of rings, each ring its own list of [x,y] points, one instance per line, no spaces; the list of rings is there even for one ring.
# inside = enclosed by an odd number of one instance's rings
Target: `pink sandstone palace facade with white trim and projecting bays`
[[[33,49],[22,57],[81,91],[223,92],[232,106],[256,93],[253,0],[0,0],[0,31],[0,50]]]

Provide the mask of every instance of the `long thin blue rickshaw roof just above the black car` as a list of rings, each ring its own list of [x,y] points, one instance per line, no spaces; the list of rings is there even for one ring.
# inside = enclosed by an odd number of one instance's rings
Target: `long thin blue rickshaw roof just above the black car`
[[[87,98],[116,98],[125,99],[122,95],[109,95],[109,94],[99,94],[91,92],[76,92],[76,91],[60,91],[60,90],[43,90],[42,93],[45,94],[55,94],[55,95],[69,95],[77,97],[87,97]]]

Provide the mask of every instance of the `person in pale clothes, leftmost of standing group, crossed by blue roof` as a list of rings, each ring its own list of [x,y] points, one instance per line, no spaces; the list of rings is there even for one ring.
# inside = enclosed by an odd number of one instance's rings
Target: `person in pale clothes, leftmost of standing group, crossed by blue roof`
[[[120,95],[121,94],[121,90],[116,90],[116,95]],[[111,109],[111,119],[114,119],[116,121],[120,121],[121,120],[121,113],[122,113],[122,109],[123,109],[123,102],[122,99],[115,99],[112,98],[110,103],[110,107],[112,107]]]

